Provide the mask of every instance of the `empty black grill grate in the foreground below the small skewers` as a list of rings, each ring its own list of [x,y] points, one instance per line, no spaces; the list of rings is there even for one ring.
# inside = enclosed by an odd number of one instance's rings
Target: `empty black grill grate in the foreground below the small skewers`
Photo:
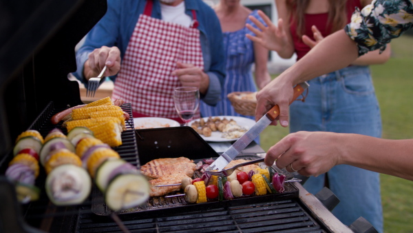
[[[116,223],[109,223],[107,217],[100,218],[81,214],[76,231],[121,232]],[[120,219],[131,232],[325,232],[294,199],[149,218],[128,214]]]

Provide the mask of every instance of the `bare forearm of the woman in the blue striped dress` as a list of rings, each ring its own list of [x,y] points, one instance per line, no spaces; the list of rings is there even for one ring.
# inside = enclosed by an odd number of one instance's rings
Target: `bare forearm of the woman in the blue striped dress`
[[[268,50],[255,42],[253,43],[253,48],[255,56],[255,83],[257,83],[257,87],[261,90],[271,81],[267,68]]]

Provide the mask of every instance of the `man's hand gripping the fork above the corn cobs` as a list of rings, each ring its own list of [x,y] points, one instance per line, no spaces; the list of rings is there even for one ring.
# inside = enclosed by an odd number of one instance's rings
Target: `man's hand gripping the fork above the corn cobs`
[[[89,54],[89,59],[85,63],[85,77],[87,79],[96,77],[107,65],[107,69],[103,76],[112,76],[120,70],[120,50],[118,47],[96,48]]]

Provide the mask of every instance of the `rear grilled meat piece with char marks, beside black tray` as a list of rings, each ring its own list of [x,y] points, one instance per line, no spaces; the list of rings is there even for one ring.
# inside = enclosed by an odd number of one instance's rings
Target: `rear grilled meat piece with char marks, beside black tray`
[[[193,176],[195,171],[195,163],[172,163],[158,166],[142,165],[140,172],[151,179],[156,179],[161,176],[170,176],[171,174],[186,174],[189,177]]]

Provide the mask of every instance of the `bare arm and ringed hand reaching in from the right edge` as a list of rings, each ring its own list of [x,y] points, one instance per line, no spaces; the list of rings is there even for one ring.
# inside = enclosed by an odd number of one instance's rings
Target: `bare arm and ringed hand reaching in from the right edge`
[[[297,132],[271,147],[265,163],[318,176],[340,164],[413,181],[413,139],[377,139],[361,134]],[[284,153],[285,152],[285,153]],[[280,155],[281,154],[281,155]]]

